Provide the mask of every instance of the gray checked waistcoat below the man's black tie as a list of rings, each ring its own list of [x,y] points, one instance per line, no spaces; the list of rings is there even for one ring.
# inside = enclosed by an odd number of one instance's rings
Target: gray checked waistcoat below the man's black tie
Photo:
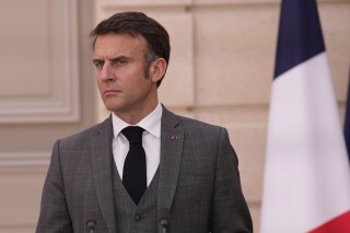
[[[159,170],[138,206],[125,189],[115,165],[113,177],[117,233],[156,233]]]

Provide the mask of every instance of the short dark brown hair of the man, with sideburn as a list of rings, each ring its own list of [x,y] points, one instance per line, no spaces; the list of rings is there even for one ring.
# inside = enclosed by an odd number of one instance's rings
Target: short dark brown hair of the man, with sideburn
[[[166,30],[142,12],[116,13],[98,23],[90,33],[90,36],[94,37],[93,46],[95,46],[98,35],[106,34],[128,34],[133,37],[142,36],[145,39],[148,46],[148,50],[144,54],[145,77],[148,77],[151,62],[156,58],[164,58],[168,63],[171,45]],[[160,86],[163,78],[158,81],[158,86]]]

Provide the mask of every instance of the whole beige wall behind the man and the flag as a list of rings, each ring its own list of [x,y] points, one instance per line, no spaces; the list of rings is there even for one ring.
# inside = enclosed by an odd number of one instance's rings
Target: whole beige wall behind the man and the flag
[[[350,0],[317,2],[343,121]],[[171,35],[161,102],[229,129],[258,232],[279,0],[0,0],[0,233],[34,232],[55,140],[108,116],[89,33],[126,10]]]

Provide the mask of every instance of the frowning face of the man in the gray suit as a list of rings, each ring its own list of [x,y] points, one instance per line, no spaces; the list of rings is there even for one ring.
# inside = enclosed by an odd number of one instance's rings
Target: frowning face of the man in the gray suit
[[[116,115],[148,112],[158,103],[156,81],[144,77],[145,51],[141,36],[106,34],[96,38],[93,62],[97,85],[107,109]]]

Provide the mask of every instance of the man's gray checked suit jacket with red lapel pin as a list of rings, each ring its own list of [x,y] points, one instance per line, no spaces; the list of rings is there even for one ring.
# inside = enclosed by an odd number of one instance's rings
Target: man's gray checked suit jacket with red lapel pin
[[[170,209],[168,232],[253,232],[238,162],[228,131],[163,107],[158,209]],[[110,118],[59,140],[45,180],[37,233],[115,233]]]

